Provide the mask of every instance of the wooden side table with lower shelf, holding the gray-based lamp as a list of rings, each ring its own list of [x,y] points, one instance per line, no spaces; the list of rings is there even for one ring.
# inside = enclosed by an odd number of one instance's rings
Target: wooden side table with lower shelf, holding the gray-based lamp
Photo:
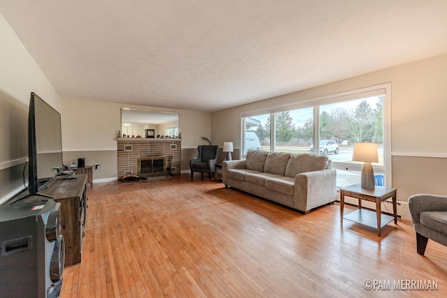
[[[346,216],[343,216],[345,195],[351,198],[358,199],[358,210],[353,211]],[[381,211],[381,203],[389,198],[393,198],[394,216],[382,214]],[[376,203],[375,216],[374,211],[362,209],[362,200]],[[397,225],[397,189],[376,186],[375,189],[369,190],[361,188],[360,184],[354,184],[348,187],[340,188],[340,221],[342,224],[343,218],[346,218],[349,221],[354,221],[356,223],[361,223],[362,225],[367,225],[371,228],[376,228],[377,234],[380,237],[381,228],[387,225],[390,221],[393,221],[393,218],[395,225]]]

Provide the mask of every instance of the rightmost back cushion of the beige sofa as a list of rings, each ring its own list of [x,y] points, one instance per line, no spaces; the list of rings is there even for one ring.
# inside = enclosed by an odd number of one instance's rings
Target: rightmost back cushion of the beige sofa
[[[309,155],[307,153],[293,155],[287,163],[285,176],[295,177],[297,174],[304,172],[324,170],[328,168],[328,165],[328,156]]]

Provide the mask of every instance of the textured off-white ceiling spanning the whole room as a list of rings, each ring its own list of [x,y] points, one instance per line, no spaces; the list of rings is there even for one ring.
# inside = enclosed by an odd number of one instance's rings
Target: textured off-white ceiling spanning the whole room
[[[1,0],[59,94],[216,111],[447,52],[447,1]]]

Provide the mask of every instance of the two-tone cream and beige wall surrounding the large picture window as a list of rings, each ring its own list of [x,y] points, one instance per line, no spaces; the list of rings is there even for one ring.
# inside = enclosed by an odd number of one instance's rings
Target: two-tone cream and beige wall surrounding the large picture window
[[[212,113],[212,137],[240,147],[240,114],[390,82],[392,170],[398,200],[447,195],[447,54]],[[430,162],[427,161],[430,159]],[[433,159],[434,158],[434,159]]]

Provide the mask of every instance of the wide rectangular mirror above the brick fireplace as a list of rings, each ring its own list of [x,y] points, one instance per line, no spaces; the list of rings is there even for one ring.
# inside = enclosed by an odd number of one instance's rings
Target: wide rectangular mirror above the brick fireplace
[[[122,137],[179,137],[179,115],[172,112],[121,109]]]

